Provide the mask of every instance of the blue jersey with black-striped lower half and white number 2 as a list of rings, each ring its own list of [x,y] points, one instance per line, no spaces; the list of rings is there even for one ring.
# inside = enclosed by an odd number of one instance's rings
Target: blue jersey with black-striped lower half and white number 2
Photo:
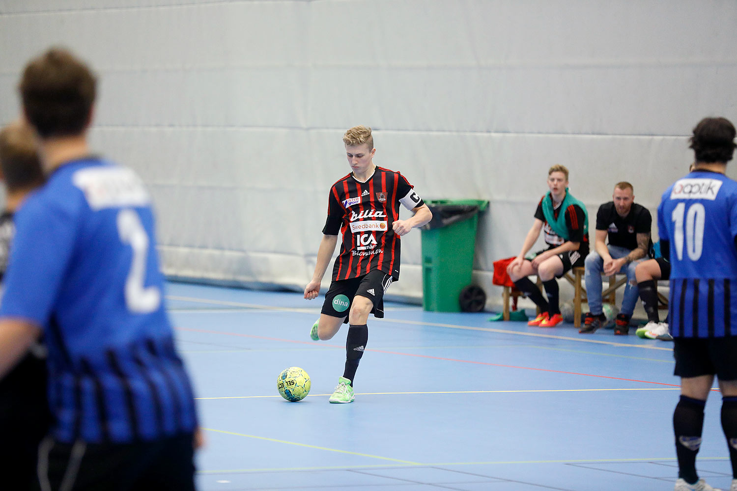
[[[99,158],[60,166],[15,213],[4,286],[0,317],[43,326],[59,441],[193,431],[150,197],[132,170]]]

